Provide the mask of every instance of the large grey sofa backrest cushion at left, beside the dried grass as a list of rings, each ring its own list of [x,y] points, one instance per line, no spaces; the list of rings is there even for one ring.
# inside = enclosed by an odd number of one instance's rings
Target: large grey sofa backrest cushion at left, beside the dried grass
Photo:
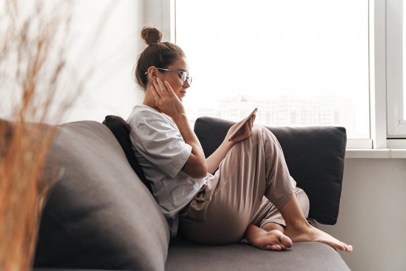
[[[169,227],[105,125],[58,128],[47,172],[61,170],[41,221],[35,266],[163,270]]]

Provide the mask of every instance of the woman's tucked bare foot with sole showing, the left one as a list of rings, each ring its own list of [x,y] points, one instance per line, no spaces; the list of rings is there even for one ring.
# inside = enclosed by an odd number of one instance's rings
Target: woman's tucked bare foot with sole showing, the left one
[[[254,225],[247,227],[245,237],[254,247],[265,250],[286,250],[292,246],[292,241],[280,230],[266,231]]]

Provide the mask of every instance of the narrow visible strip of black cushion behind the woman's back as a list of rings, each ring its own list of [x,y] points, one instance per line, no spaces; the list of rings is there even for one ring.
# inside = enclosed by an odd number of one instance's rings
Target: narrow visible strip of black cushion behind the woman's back
[[[128,123],[126,123],[125,120],[123,120],[121,117],[109,115],[106,116],[103,124],[109,127],[109,129],[113,132],[118,143],[120,143],[120,146],[125,153],[125,157],[127,157],[127,160],[132,167],[132,170],[137,174],[140,180],[152,193],[151,184],[149,183],[147,178],[145,178],[144,171],[138,163],[137,158],[132,150],[132,144],[129,137],[130,126],[128,125]]]

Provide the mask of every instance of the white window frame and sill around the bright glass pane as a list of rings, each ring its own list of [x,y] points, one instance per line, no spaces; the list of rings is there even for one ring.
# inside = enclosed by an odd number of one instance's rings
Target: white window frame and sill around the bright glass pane
[[[152,19],[153,25],[163,29],[163,40],[176,42],[176,0],[143,1],[148,3],[144,6],[149,7],[144,13],[145,17],[149,18],[148,23],[151,23]],[[399,58],[402,56],[399,50],[402,45],[402,10],[395,9],[398,11],[396,19],[388,16],[388,12],[393,11],[392,7],[399,3],[401,5],[402,0],[365,1],[368,1],[370,138],[349,139],[347,149],[406,149],[406,120],[399,120],[400,110],[397,110],[397,115],[388,110],[402,106],[402,101],[398,98],[399,91],[403,91],[402,59]],[[161,9],[156,8],[159,6]],[[161,14],[158,14],[159,12]],[[388,19],[389,17],[391,19]],[[389,29],[393,21],[397,22],[397,30]],[[394,42],[396,40],[397,43]],[[397,50],[394,50],[393,46],[397,46]],[[393,59],[398,61],[393,62]],[[394,126],[393,119],[396,119],[396,116],[398,123]],[[398,132],[399,130],[401,132]]]

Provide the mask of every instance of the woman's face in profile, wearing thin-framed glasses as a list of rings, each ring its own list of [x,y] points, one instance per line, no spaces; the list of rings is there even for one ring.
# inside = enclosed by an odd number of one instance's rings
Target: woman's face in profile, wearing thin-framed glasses
[[[172,65],[167,66],[166,69],[173,71],[186,72],[189,74],[189,65],[187,64],[186,58],[181,57],[176,60]],[[181,75],[175,72],[168,72],[158,70],[158,77],[163,81],[167,81],[178,98],[183,101],[183,97],[186,95],[187,89],[190,87],[189,82],[185,80],[185,83],[182,86]]]

